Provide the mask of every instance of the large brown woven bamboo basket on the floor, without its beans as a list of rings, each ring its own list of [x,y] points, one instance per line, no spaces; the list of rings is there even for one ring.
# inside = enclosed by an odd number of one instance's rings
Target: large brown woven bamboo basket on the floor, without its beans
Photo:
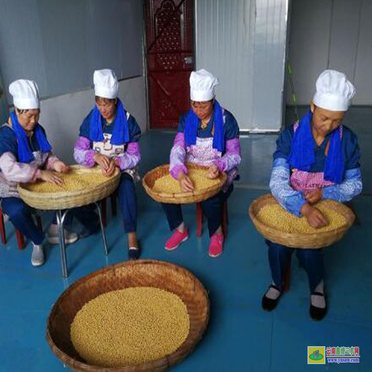
[[[70,339],[70,325],[88,301],[128,287],[156,287],[179,296],[187,307],[190,329],[185,342],[172,354],[136,366],[103,368],[86,364]],[[56,356],[74,371],[166,371],[182,361],[202,338],[209,319],[209,300],[200,281],[186,269],[167,262],[137,260],[112,265],[87,275],[67,288],[54,304],[47,321],[47,340]]]

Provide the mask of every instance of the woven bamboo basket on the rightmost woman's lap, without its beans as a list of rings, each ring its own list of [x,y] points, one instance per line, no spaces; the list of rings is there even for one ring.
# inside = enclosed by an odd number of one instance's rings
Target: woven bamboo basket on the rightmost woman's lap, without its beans
[[[353,225],[355,215],[349,207],[337,201],[332,201],[330,208],[342,214],[346,220],[345,225],[337,229],[322,233],[311,234],[292,234],[285,233],[263,224],[258,218],[259,210],[265,205],[277,204],[278,202],[271,194],[266,194],[252,201],[249,206],[249,216],[257,229],[264,238],[271,242],[281,244],[291,248],[324,248],[339,241],[349,228]]]

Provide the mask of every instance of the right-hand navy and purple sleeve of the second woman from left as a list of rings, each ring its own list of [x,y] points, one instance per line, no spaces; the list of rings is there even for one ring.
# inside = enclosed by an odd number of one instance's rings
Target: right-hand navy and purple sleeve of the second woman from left
[[[126,147],[126,151],[116,156],[116,159],[119,160],[119,168],[122,171],[135,168],[141,160],[138,142],[141,137],[141,128],[131,115],[129,115],[127,122],[129,127],[129,143]]]

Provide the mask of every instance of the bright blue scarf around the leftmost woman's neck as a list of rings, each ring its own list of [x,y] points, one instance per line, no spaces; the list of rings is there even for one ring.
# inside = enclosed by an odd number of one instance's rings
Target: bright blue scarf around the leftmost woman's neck
[[[30,163],[35,160],[34,155],[32,154],[30,143],[26,132],[22,128],[21,124],[19,124],[17,115],[15,112],[10,114],[10,120],[12,124],[12,128],[17,136],[18,142],[18,161],[20,163]],[[43,128],[40,124],[36,124],[34,127],[34,133],[36,136],[36,140],[41,148],[42,152],[49,152],[52,150],[51,144],[48,142],[47,137],[44,134]]]

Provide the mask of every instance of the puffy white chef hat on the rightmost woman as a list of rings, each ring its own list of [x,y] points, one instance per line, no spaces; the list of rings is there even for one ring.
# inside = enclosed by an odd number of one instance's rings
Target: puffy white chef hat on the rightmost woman
[[[312,102],[322,109],[347,111],[354,95],[355,87],[344,73],[324,70],[316,80]]]

